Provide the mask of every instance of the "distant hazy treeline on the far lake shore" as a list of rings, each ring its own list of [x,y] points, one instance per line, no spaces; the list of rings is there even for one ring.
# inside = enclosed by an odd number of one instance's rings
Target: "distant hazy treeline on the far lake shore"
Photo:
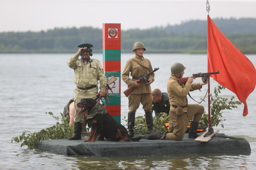
[[[241,52],[256,53],[256,18],[212,20]],[[122,31],[122,52],[131,52],[136,41],[143,42],[147,52],[206,53],[207,21],[191,20],[180,25]],[[92,43],[93,52],[102,52],[102,29],[73,27],[0,32],[0,53],[74,53],[81,43]]]

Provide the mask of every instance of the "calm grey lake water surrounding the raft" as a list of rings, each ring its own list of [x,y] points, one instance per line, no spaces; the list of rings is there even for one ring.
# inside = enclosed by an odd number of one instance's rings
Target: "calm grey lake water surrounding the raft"
[[[236,110],[224,111],[224,128],[221,133],[228,136],[246,138],[252,148],[250,155],[187,154],[149,155],[139,157],[88,157],[65,156],[41,150],[30,150],[11,139],[23,131],[38,132],[56,124],[54,118],[46,115],[51,111],[60,116],[63,107],[74,96],[74,71],[67,66],[72,53],[65,54],[0,54],[0,167],[1,169],[255,169],[256,167],[256,90],[247,99],[249,114],[243,117],[243,104]],[[256,66],[256,55],[246,55]],[[133,53],[122,54],[122,68]],[[206,54],[149,54],[152,66],[159,67],[152,89],[166,92],[166,82],[170,76],[170,66],[182,62],[187,67],[184,76],[207,72]],[[93,54],[102,62],[102,54]],[[255,77],[253,77],[255,78]],[[196,78],[195,82],[200,78]],[[218,83],[211,79],[211,92]],[[122,92],[126,85],[122,82]],[[196,90],[191,95],[200,100],[202,92]],[[229,90],[223,97],[235,96]],[[122,118],[127,117],[128,100],[122,93]],[[189,99],[189,103],[195,103]],[[207,111],[207,102],[202,103]],[[136,116],[143,115],[143,110]]]

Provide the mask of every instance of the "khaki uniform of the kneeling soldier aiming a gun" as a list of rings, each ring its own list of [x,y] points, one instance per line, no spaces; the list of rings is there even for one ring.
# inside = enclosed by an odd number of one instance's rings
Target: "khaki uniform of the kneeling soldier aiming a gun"
[[[188,104],[187,95],[189,91],[201,89],[200,83],[186,82],[186,85],[179,85],[178,78],[171,76],[167,83],[167,92],[170,101],[170,118],[173,121],[173,133],[168,133],[164,139],[181,141],[187,130],[189,120],[193,117],[194,122],[199,122],[204,113],[204,106],[199,104]],[[181,115],[177,115],[178,106],[181,106]]]

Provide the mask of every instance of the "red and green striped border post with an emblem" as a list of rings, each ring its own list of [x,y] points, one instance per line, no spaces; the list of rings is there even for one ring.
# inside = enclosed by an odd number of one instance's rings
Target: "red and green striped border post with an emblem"
[[[115,118],[117,122],[121,122],[121,24],[103,24],[102,25],[102,53],[103,68],[106,78],[109,80],[111,76],[115,76],[117,80],[112,83],[112,91],[107,90],[109,94],[109,103],[105,107],[108,113]]]

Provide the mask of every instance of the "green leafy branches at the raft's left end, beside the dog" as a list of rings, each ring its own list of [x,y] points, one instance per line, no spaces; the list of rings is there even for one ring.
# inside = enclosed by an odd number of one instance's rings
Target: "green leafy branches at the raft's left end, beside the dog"
[[[46,139],[70,138],[74,133],[74,126],[68,124],[67,118],[61,113],[61,119],[55,117],[52,112],[45,113],[57,120],[56,125],[42,129],[39,132],[23,131],[22,135],[12,138],[12,143],[21,143],[20,146],[35,148],[38,142]],[[60,122],[61,120],[61,122]]]

